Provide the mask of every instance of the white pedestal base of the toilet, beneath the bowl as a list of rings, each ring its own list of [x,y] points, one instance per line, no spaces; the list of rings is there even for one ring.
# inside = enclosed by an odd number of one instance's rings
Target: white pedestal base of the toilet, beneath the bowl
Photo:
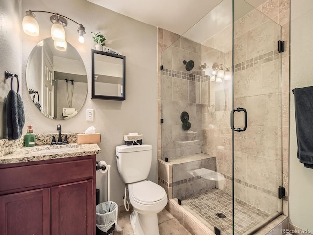
[[[130,223],[134,235],[160,235],[157,214],[140,214],[133,210]]]

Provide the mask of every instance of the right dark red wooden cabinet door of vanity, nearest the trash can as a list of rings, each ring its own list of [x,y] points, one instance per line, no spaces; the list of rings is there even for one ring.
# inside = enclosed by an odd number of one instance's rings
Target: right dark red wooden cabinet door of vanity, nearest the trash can
[[[92,180],[52,187],[52,235],[92,235],[92,191]]]

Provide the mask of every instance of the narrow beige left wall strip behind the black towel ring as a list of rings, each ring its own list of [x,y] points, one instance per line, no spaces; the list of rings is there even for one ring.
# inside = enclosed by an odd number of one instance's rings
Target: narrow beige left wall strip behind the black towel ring
[[[0,3],[0,139],[6,132],[6,121],[3,117],[3,102],[11,89],[11,79],[5,80],[4,71],[16,73],[20,79],[20,91],[22,94],[22,30],[21,30],[21,0],[1,0]],[[14,87],[16,80],[14,79]],[[15,90],[16,91],[16,90]]]

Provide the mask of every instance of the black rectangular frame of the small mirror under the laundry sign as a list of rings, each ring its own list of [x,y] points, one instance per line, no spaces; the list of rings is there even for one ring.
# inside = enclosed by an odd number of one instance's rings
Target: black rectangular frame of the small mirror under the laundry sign
[[[123,60],[122,68],[123,68],[123,96],[110,96],[110,95],[97,95],[95,94],[95,80],[94,80],[94,54],[106,55],[110,57],[120,58]],[[112,53],[107,53],[104,51],[93,50],[91,49],[91,81],[92,81],[92,96],[91,99],[107,99],[107,100],[125,100],[125,56],[124,55],[116,55]]]

